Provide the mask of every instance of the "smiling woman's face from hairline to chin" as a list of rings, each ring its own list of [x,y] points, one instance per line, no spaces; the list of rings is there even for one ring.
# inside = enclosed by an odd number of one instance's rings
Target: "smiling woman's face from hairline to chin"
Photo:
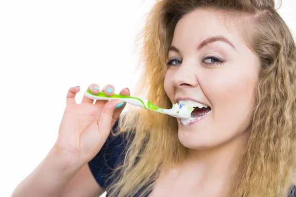
[[[188,148],[215,147],[250,131],[259,62],[227,24],[217,12],[198,9],[174,32],[165,92],[172,103],[209,106],[189,121],[177,119],[179,139]]]

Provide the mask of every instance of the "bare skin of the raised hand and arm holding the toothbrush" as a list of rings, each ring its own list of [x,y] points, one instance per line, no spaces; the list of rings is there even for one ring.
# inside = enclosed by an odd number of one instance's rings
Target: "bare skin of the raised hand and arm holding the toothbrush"
[[[108,88],[113,92],[107,92]],[[88,90],[93,94],[100,92],[97,84],[91,84]],[[79,91],[79,87],[69,89],[56,143],[17,186],[12,197],[94,197],[103,194],[104,189],[97,184],[87,163],[101,150],[125,105],[118,108],[121,100],[94,102],[85,96],[81,103],[76,103]],[[112,96],[115,89],[109,84],[101,92]],[[119,94],[130,96],[127,88]]]

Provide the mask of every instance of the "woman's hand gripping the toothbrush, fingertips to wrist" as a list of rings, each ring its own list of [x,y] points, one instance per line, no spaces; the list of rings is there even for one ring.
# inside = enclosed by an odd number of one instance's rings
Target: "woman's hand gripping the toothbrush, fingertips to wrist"
[[[99,86],[92,84],[88,88],[93,94],[100,92]],[[69,89],[67,106],[60,124],[59,135],[54,148],[63,153],[70,163],[86,164],[100,151],[111,128],[122,112],[121,100],[96,100],[83,96],[81,104],[75,102],[79,87]],[[111,96],[114,94],[112,85],[105,86],[101,92]],[[121,95],[130,96],[127,88],[121,90]],[[116,108],[119,107],[119,108]]]

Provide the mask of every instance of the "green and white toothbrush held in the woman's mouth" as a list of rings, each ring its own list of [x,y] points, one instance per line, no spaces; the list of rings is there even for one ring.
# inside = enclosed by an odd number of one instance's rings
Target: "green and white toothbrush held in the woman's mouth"
[[[194,110],[193,107],[185,106],[184,104],[173,104],[172,109],[163,109],[153,105],[148,99],[139,99],[136,97],[129,97],[124,95],[116,95],[113,94],[111,97],[107,96],[104,92],[100,92],[95,95],[90,90],[84,92],[84,96],[89,99],[97,99],[97,100],[114,100],[119,99],[123,102],[136,105],[139,107],[143,107],[144,109],[150,109],[152,111],[156,111],[162,114],[167,114],[176,118],[188,119],[191,116],[191,112]]]

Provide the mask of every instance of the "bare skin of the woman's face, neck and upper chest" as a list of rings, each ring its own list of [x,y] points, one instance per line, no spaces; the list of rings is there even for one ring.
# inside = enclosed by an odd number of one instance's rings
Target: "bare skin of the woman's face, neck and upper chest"
[[[235,49],[223,41],[197,49],[212,36],[224,36]],[[176,61],[165,75],[166,94],[172,103],[178,97],[196,99],[210,106],[211,112],[187,127],[177,120],[178,137],[188,154],[183,164],[160,175],[149,197],[226,196],[231,173],[250,136],[257,55],[239,37],[234,22],[226,26],[217,10],[186,14],[177,23],[172,45],[179,52],[168,54],[169,60]]]

